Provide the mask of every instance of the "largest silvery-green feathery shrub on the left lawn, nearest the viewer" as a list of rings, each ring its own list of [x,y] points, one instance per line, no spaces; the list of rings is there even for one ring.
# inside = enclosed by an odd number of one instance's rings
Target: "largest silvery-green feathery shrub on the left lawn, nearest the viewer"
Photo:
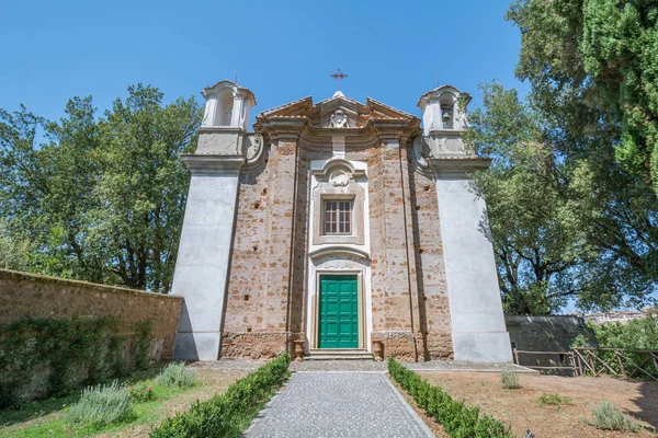
[[[99,427],[124,422],[132,415],[128,390],[115,380],[112,384],[83,389],[80,400],[65,413],[64,419],[71,425]]]

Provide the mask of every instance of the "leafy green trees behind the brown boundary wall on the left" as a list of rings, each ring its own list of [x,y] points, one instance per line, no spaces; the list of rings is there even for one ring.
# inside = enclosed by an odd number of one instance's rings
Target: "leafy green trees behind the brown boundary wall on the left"
[[[189,184],[179,154],[200,116],[193,97],[164,104],[141,84],[104,117],[91,97],[56,123],[0,110],[3,264],[167,292]],[[16,245],[20,263],[2,250]]]

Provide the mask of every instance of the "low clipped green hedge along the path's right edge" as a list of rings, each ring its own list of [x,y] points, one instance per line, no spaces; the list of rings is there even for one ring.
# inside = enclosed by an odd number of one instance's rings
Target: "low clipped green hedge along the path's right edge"
[[[512,438],[514,435],[502,423],[480,415],[479,407],[453,400],[439,387],[432,387],[418,373],[408,370],[393,358],[388,372],[428,414],[433,416],[451,438]]]

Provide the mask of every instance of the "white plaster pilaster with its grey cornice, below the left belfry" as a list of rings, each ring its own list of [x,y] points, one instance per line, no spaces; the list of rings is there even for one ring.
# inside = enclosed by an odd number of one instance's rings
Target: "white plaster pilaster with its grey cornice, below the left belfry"
[[[216,360],[241,160],[184,157],[192,172],[172,293],[185,298],[174,359]]]

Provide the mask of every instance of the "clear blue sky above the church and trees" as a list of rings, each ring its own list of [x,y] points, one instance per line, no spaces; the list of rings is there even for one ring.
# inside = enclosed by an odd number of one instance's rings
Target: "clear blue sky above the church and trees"
[[[451,83],[476,95],[513,77],[520,34],[508,1],[8,1],[0,8],[0,107],[54,119],[71,96],[106,110],[129,84],[166,99],[220,79],[251,89],[252,114],[336,91],[420,115],[418,97]]]

